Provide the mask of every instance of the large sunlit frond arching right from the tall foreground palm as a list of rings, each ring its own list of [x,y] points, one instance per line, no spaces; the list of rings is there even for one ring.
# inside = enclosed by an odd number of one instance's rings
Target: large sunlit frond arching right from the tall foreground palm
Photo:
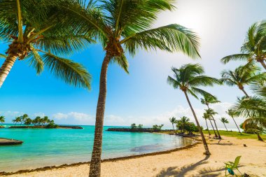
[[[200,38],[190,29],[179,24],[169,24],[156,29],[141,31],[131,36],[125,36],[120,42],[134,55],[137,48],[145,50],[166,50],[168,52],[183,52],[189,57],[200,57]]]

